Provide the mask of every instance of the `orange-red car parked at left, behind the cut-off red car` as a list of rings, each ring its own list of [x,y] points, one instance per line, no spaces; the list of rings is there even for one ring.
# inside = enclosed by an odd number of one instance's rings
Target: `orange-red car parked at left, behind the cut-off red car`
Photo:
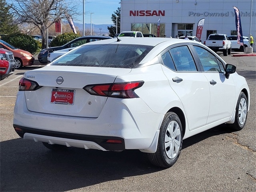
[[[16,69],[19,69],[22,66],[30,66],[34,63],[35,58],[28,51],[16,48],[3,40],[0,40],[0,48],[4,48],[13,53]]]

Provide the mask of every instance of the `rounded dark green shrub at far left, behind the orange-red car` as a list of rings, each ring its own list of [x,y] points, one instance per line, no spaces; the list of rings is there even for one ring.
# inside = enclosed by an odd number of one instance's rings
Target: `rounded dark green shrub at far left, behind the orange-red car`
[[[40,43],[29,35],[22,33],[13,33],[1,38],[5,42],[13,45],[14,47],[26,50],[32,54],[41,50]]]

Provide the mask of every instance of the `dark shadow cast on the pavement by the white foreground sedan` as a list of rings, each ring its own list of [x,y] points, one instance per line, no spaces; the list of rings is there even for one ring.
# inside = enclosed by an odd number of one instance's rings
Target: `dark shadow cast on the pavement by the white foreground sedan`
[[[217,126],[184,140],[183,146],[229,132],[225,125]],[[22,138],[0,146],[0,191],[67,191],[164,170],[152,166],[139,150],[117,153],[69,148],[54,152]]]

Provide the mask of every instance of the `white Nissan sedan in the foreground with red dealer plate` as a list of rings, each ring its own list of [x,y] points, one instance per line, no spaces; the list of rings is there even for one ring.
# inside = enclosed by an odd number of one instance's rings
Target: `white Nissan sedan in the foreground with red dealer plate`
[[[203,44],[118,37],[27,71],[13,126],[52,150],[138,149],[166,168],[182,140],[224,123],[244,128],[249,106],[245,78]]]

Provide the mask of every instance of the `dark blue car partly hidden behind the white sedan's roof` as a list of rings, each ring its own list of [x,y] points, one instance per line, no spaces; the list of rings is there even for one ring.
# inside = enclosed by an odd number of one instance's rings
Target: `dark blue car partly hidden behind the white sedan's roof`
[[[86,44],[89,42],[93,42],[93,41],[98,41],[98,40],[104,40],[104,39],[111,39],[110,36],[82,36],[82,37],[78,37],[62,46],[57,46],[57,47],[49,47],[46,49],[42,49],[40,51],[40,53],[38,54],[38,60],[40,63],[42,64],[47,64],[47,56],[48,53],[57,51],[57,50],[62,50],[62,49],[66,49],[66,48],[70,48],[70,47],[77,47],[80,46],[82,44]]]

